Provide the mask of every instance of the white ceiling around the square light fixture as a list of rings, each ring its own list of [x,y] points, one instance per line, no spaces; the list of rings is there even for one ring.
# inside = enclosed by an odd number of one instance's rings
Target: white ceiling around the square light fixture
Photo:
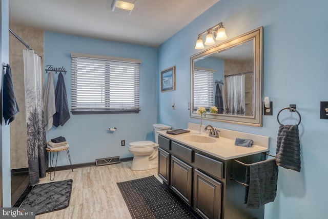
[[[9,24],[157,47],[219,0],[137,0],[131,15],[112,0],[10,0]]]

